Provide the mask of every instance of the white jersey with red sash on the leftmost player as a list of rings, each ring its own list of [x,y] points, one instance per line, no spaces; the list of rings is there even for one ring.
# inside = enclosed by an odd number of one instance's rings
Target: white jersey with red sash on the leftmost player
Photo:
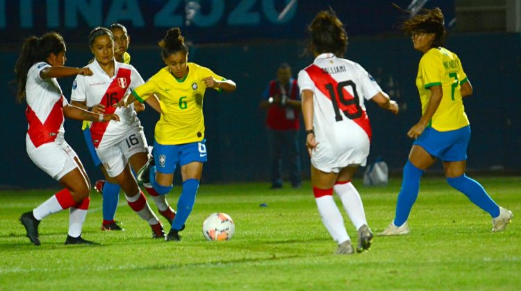
[[[40,72],[48,67],[51,65],[47,62],[38,62],[27,72],[26,149],[29,153],[45,143],[64,141],[63,107],[69,103],[63,98],[56,78],[40,77]]]

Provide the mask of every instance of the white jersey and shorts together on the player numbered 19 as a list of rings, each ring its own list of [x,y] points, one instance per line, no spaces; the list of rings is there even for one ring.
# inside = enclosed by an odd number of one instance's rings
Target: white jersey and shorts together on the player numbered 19
[[[313,128],[319,143],[311,163],[326,173],[349,165],[365,166],[371,125],[364,100],[381,88],[360,64],[323,53],[299,72],[300,91],[313,91]]]

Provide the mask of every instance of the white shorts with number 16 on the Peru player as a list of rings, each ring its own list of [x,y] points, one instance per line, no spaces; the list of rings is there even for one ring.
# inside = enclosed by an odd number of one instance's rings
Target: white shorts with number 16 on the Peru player
[[[116,177],[123,172],[126,164],[129,164],[130,157],[138,152],[147,152],[147,148],[147,139],[142,128],[135,127],[127,132],[119,143],[97,148],[96,152],[108,175]]]

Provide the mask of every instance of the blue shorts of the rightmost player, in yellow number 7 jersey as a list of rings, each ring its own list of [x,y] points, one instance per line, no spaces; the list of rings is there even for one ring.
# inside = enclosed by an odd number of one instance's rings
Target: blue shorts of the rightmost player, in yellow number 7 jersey
[[[465,161],[469,141],[470,125],[448,132],[427,127],[413,144],[420,145],[442,161]]]

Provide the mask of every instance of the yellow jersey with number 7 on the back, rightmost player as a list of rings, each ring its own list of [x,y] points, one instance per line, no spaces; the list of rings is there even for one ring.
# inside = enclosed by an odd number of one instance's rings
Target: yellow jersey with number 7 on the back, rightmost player
[[[431,48],[423,55],[416,76],[422,114],[431,98],[429,88],[441,86],[443,89],[440,106],[432,116],[429,126],[440,132],[447,132],[469,125],[460,91],[461,84],[467,81],[458,56],[447,48]]]

